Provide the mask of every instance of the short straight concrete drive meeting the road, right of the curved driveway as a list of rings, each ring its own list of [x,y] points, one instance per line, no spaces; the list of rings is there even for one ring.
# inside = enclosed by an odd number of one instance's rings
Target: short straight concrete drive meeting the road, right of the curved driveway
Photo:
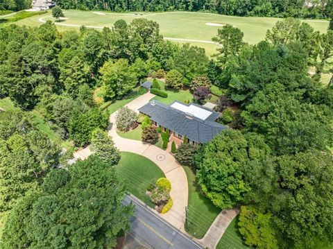
[[[237,208],[221,211],[212,225],[210,225],[210,229],[206,232],[203,239],[198,239],[198,241],[209,249],[215,249],[228,225],[237,214],[239,214],[239,209]]]

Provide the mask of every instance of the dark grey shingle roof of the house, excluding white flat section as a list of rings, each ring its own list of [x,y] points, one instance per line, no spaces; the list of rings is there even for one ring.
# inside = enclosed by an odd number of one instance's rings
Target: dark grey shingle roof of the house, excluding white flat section
[[[228,129],[228,126],[222,126],[214,122],[219,117],[218,112],[213,112],[203,121],[196,117],[189,118],[184,112],[158,101],[146,103],[142,108],[139,108],[139,111],[151,117],[151,120],[161,126],[185,135],[187,138],[201,144],[207,143],[216,135],[219,135],[222,130]]]

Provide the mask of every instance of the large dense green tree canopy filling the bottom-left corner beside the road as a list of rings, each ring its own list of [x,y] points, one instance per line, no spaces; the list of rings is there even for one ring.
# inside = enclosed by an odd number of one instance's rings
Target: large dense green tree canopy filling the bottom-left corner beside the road
[[[125,193],[114,168],[96,156],[76,162],[68,171],[53,169],[42,193],[28,194],[10,213],[3,244],[5,248],[113,247],[117,234],[128,230],[133,214],[132,206],[121,203]]]

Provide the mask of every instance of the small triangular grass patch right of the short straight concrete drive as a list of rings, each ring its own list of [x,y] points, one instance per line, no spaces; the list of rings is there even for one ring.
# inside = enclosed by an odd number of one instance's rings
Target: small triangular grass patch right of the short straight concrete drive
[[[216,246],[216,249],[245,249],[251,248],[243,242],[241,234],[238,230],[238,216],[232,220],[227,230],[225,230],[221,240]]]

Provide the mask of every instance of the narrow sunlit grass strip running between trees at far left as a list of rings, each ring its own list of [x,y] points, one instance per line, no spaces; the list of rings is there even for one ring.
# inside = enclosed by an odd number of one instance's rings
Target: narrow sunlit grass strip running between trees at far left
[[[10,101],[10,98],[1,98],[0,99],[0,108],[3,108],[4,110],[13,110],[15,109],[14,104],[12,101]],[[53,132],[51,127],[49,126],[49,123],[47,123],[39,112],[37,110],[32,110],[28,112],[28,114],[31,115],[33,122],[37,126],[38,129],[42,130],[42,132],[46,133],[46,135],[51,139],[52,141],[56,141],[59,143],[63,148],[71,149],[73,148],[73,145],[69,143],[69,141],[62,140],[56,132]]]

